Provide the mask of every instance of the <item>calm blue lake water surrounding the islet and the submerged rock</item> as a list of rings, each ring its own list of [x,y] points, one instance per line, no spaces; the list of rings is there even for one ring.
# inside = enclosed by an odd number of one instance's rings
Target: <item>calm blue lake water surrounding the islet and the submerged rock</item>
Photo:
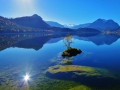
[[[71,65],[97,68],[101,78],[95,75],[79,75],[77,79],[80,80],[75,80],[64,74],[61,74],[64,78],[46,75],[49,67],[65,66],[61,63],[61,54],[66,49],[63,43],[65,35],[1,34],[0,90],[119,90],[118,35],[73,35],[71,47],[82,50],[82,53],[71,58]],[[26,74],[30,78],[28,81],[25,80]]]

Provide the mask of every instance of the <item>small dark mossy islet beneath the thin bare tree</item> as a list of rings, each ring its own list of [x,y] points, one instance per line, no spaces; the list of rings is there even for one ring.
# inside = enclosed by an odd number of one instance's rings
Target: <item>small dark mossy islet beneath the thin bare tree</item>
[[[80,49],[70,47],[62,53],[62,57],[64,58],[64,57],[76,56],[77,54],[80,54],[81,52],[82,51]]]

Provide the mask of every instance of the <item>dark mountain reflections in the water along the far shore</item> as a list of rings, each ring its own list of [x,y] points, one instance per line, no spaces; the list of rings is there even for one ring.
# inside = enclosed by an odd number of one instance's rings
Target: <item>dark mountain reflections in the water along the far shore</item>
[[[33,48],[39,50],[47,42],[54,43],[61,40],[66,33],[63,34],[2,34],[0,35],[0,51],[9,47],[19,47],[19,48]],[[118,35],[88,35],[88,34],[71,34],[74,35],[76,39],[91,41],[96,45],[111,45],[116,42],[120,36]],[[60,38],[60,39],[56,39]],[[53,40],[54,41],[51,41]]]

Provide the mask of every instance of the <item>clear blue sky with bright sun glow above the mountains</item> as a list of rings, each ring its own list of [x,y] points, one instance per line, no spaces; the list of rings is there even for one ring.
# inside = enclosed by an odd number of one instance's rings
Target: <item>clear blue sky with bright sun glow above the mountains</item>
[[[61,24],[83,24],[98,18],[120,24],[120,0],[0,0],[0,16],[33,14]]]

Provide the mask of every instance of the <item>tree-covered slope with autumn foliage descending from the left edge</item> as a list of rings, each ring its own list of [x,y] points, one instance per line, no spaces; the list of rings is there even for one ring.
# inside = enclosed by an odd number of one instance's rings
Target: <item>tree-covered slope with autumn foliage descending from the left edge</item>
[[[52,30],[43,30],[22,26],[12,22],[11,19],[0,16],[0,33],[38,33],[38,32],[53,32]]]

